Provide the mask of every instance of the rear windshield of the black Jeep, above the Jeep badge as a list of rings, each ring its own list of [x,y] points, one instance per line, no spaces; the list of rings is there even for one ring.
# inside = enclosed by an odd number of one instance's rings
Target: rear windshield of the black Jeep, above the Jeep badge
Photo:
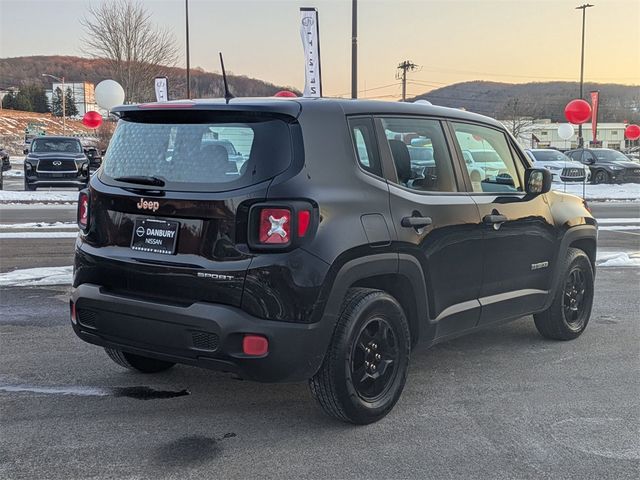
[[[122,119],[109,143],[100,179],[131,187],[119,177],[157,177],[164,189],[226,191],[254,185],[283,172],[292,161],[290,127],[265,115],[234,115],[193,123]]]

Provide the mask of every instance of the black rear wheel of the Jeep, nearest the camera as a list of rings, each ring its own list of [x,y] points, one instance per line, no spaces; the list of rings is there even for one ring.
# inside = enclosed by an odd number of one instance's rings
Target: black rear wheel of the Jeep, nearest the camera
[[[332,417],[376,422],[402,394],[410,352],[398,301],[381,290],[349,289],[322,366],[309,380],[311,394]]]

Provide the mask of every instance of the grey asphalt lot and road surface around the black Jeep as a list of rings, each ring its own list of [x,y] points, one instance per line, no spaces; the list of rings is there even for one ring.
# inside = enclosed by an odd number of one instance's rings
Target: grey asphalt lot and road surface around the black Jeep
[[[19,210],[1,223],[52,215]],[[623,232],[601,246],[640,250]],[[3,239],[1,271],[68,265],[72,247]],[[75,337],[67,291],[0,290],[0,478],[638,478],[640,268],[599,269],[576,341],[544,340],[525,317],[419,346],[396,408],[364,427],[326,417],[305,384],[122,370]]]

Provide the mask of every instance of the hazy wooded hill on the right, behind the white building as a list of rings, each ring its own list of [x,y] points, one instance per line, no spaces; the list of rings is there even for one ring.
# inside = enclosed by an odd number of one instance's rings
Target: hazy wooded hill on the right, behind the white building
[[[640,85],[585,83],[585,100],[589,100],[591,90],[600,91],[601,122],[640,120]],[[515,115],[564,121],[564,106],[579,93],[577,82],[511,84],[473,81],[432,90],[411,100],[426,99],[434,105],[464,107],[498,118]]]

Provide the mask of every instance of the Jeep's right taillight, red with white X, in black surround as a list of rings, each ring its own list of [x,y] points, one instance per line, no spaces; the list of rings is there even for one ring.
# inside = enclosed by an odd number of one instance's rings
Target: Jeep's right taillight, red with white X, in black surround
[[[253,250],[291,250],[313,237],[318,207],[308,200],[276,200],[249,209],[247,241]]]

